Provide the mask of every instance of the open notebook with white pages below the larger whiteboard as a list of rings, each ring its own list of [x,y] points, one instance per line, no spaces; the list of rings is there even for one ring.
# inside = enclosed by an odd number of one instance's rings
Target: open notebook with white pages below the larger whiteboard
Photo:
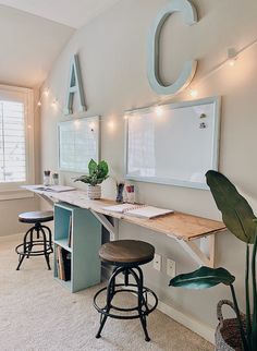
[[[132,205],[132,204],[121,204],[114,206],[102,207],[105,210],[110,210],[114,213],[125,214],[130,216],[140,217],[140,218],[155,218],[168,214],[172,214],[172,209],[158,208],[147,205]]]

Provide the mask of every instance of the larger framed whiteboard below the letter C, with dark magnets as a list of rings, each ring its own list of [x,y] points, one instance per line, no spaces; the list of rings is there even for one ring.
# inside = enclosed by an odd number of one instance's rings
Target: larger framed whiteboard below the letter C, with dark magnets
[[[208,189],[218,170],[220,98],[131,111],[126,119],[126,179]]]

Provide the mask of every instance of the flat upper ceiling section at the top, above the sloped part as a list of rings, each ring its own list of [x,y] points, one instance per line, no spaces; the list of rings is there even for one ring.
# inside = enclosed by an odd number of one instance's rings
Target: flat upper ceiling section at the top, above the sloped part
[[[0,3],[79,28],[119,0],[0,0]]]

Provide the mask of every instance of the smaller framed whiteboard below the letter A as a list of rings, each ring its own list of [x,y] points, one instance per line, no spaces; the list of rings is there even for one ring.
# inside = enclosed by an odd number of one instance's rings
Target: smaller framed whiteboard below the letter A
[[[58,134],[60,170],[87,173],[90,159],[99,161],[99,117],[60,122]]]

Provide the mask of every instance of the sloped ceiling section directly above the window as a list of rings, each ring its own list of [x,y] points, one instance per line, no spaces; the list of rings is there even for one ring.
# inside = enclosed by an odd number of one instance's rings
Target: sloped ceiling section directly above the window
[[[37,87],[74,28],[0,5],[0,84]]]

